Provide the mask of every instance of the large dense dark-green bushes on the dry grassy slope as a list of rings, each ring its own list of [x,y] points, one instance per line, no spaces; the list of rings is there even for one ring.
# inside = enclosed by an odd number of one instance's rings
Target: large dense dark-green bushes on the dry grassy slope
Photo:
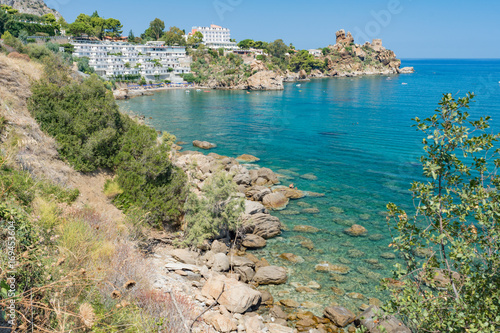
[[[176,225],[186,179],[169,159],[172,139],[158,138],[155,130],[121,115],[97,76],[74,81],[57,57],[47,59],[45,77],[32,87],[29,110],[57,140],[61,156],[83,172],[114,170],[123,190],[115,197],[119,207],[150,212],[145,221],[157,227]]]

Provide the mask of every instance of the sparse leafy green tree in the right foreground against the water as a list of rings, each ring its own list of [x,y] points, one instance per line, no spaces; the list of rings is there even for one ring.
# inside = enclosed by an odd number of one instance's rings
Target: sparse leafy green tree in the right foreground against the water
[[[500,330],[500,135],[489,117],[468,119],[473,97],[444,95],[434,115],[414,119],[427,181],[412,184],[411,216],[388,205],[405,261],[388,310],[415,332]]]

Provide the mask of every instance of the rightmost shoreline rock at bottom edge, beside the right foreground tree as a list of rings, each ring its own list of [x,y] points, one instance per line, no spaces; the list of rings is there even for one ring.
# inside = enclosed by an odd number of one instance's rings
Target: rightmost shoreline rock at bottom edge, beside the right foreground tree
[[[374,305],[360,314],[356,322],[366,327],[370,333],[411,333],[400,320],[394,316],[384,315],[383,311]]]

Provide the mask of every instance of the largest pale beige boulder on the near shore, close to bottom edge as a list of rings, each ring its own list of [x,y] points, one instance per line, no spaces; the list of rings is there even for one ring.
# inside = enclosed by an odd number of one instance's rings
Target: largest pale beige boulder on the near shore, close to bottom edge
[[[257,290],[223,275],[208,279],[201,294],[213,299],[221,295],[219,303],[233,313],[244,313],[250,308],[255,308],[261,300],[261,294]]]

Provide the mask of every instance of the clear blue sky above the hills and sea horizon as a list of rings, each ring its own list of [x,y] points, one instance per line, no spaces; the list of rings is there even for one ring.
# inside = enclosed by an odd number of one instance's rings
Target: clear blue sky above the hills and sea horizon
[[[222,25],[232,38],[273,41],[297,48],[335,43],[339,29],[357,43],[382,38],[400,58],[500,58],[498,0],[45,0],[68,22],[97,10],[140,35],[155,17],[186,31]]]

